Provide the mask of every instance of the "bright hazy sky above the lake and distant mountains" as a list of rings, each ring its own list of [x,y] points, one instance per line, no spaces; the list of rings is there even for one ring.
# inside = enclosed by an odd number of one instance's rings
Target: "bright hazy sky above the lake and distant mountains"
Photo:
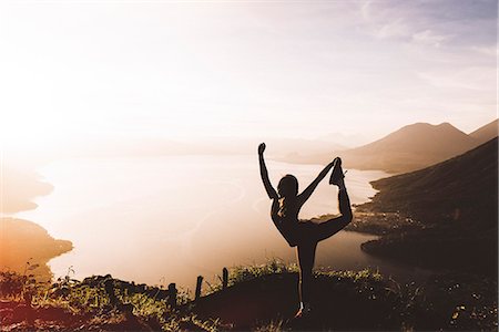
[[[497,1],[3,1],[0,137],[367,142],[497,116]]]

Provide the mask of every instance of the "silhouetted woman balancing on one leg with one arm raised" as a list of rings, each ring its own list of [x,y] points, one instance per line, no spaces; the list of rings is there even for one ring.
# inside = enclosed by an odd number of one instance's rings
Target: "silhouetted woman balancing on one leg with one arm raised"
[[[273,200],[271,209],[272,220],[288,245],[297,248],[299,267],[298,292],[301,302],[296,318],[302,318],[310,312],[312,269],[314,268],[317,243],[332,237],[352,221],[350,200],[345,188],[342,159],[336,157],[298,195],[298,180],[293,175],[284,176],[277,185],[277,191],[274,189],[268,179],[268,172],[263,156],[264,151],[265,143],[262,143],[258,146],[259,173],[265,190]],[[332,168],[334,169],[329,178],[329,184],[338,186],[338,204],[342,215],[320,224],[315,224],[309,220],[298,220],[302,206]]]

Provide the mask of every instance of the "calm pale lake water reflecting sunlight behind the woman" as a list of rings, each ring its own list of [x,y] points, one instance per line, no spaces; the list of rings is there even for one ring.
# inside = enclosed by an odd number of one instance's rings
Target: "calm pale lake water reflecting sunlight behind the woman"
[[[291,173],[304,188],[319,165],[268,163],[274,184]],[[50,261],[55,276],[69,267],[77,278],[111,273],[152,284],[177,282],[193,288],[198,274],[212,281],[223,267],[259,263],[277,257],[294,262],[295,252],[269,219],[256,156],[174,156],[70,159],[40,169],[54,190],[39,208],[18,214],[69,239],[74,249]],[[352,203],[375,194],[369,181],[383,172],[349,170]],[[337,212],[336,188],[319,185],[302,218]],[[342,231],[323,241],[317,266],[379,268],[390,274],[417,273],[360,250],[374,236]]]

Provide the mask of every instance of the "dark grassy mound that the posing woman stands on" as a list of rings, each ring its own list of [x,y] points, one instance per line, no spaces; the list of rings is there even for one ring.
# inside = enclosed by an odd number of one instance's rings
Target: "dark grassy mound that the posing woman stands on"
[[[483,277],[448,272],[418,284],[373,270],[316,271],[314,322],[297,326],[296,266],[271,260],[230,276],[230,287],[214,287],[195,310],[236,330],[497,330],[497,282]]]

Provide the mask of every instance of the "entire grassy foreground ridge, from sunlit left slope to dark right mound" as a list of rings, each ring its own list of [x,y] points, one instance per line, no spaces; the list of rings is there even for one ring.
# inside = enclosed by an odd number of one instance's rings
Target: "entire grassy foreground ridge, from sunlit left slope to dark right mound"
[[[197,301],[183,291],[177,308],[161,287],[111,276],[52,283],[29,276],[0,272],[0,331],[497,331],[497,282],[469,274],[400,284],[371,270],[317,271],[315,315],[298,324],[289,320],[297,267],[275,259],[232,268],[226,289],[215,284]]]

